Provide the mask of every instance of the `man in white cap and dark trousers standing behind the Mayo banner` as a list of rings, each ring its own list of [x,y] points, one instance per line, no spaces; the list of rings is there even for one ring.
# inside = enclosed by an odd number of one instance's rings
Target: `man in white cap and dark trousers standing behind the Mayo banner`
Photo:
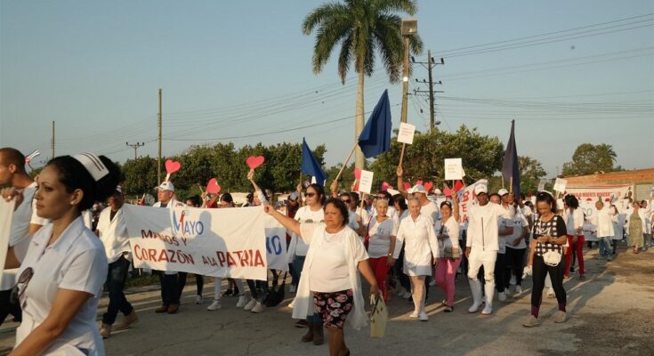
[[[174,199],[174,185],[172,182],[163,182],[157,188],[157,203],[154,207],[167,207],[173,209],[176,206],[184,206]],[[180,286],[186,282],[186,273],[177,273],[176,271],[161,271],[159,278],[161,280],[161,306],[155,309],[155,312],[167,312],[174,314],[180,309],[180,296],[182,295]],[[180,279],[180,280],[178,280]]]

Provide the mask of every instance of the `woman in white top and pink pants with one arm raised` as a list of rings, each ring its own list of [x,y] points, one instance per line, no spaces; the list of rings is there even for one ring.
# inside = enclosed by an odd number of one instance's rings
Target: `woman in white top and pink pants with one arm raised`
[[[455,207],[453,207],[455,206]],[[454,214],[453,214],[454,213]],[[436,284],[445,293],[443,301],[444,312],[454,310],[454,279],[461,263],[461,247],[459,247],[459,209],[456,193],[452,194],[452,202],[440,203],[439,263],[436,266]]]

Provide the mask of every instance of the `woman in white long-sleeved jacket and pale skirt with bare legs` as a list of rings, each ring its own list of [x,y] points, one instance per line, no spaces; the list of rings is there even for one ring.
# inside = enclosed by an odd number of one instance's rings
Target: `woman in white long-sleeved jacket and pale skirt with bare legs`
[[[397,244],[404,243],[404,272],[411,279],[411,295],[414,312],[410,318],[427,321],[424,311],[424,279],[432,275],[432,264],[438,263],[439,246],[430,216],[420,214],[420,200],[412,198],[408,203],[410,215],[402,220]]]

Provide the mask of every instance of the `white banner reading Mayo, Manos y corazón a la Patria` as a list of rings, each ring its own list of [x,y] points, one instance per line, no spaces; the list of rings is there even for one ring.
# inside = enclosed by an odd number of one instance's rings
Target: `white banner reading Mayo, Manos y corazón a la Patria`
[[[261,206],[123,208],[137,268],[260,280],[268,268],[287,269],[284,228]]]

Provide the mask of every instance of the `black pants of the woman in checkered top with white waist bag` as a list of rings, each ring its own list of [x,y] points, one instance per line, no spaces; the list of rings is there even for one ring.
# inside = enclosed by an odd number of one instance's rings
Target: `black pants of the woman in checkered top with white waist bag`
[[[567,295],[565,288],[563,288],[563,271],[565,271],[565,262],[562,258],[561,262],[556,266],[548,266],[545,264],[542,256],[534,255],[534,286],[531,290],[531,314],[535,317],[538,317],[540,303],[543,301],[543,288],[545,288],[545,277],[547,273],[550,274],[550,279],[552,279],[552,287],[554,293],[556,293],[556,300],[559,302],[559,310],[565,312]]]

